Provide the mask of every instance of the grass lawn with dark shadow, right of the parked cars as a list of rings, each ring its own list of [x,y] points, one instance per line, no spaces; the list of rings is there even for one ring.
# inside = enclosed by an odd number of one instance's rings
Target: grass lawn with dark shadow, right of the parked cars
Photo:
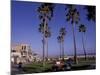
[[[78,64],[72,64],[73,70],[89,70],[96,68],[96,60],[94,58],[84,58],[78,59]]]

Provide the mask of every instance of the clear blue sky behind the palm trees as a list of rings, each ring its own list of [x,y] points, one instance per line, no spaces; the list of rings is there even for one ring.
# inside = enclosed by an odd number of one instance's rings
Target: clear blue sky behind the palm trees
[[[26,43],[31,45],[34,52],[42,55],[42,35],[38,32],[40,20],[38,18],[37,7],[40,3],[12,1],[11,3],[11,43]],[[84,6],[76,5],[80,12],[79,24],[85,24],[87,32],[85,34],[85,46],[87,53],[95,53],[96,51],[96,23],[86,19],[86,10]],[[73,55],[73,37],[71,24],[65,20],[65,5],[56,4],[54,9],[54,17],[49,22],[52,36],[49,38],[49,56],[59,55],[59,43],[57,36],[59,29],[66,27],[67,34],[65,36],[65,55]],[[81,33],[78,32],[78,25],[75,27],[77,54],[83,54]]]

